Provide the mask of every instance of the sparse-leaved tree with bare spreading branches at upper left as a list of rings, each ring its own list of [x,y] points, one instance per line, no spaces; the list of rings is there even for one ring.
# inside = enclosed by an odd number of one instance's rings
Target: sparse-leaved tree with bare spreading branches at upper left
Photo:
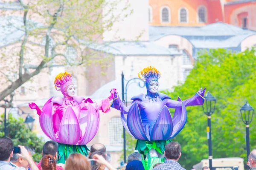
[[[101,49],[93,51],[90,47],[96,48],[103,41],[103,33],[132,12],[128,2],[119,8],[118,0],[17,0],[13,3],[19,9],[0,11],[5,34],[19,32],[22,36],[1,48],[0,101],[6,102],[0,104],[3,108],[12,107],[17,88],[41,71],[47,71],[45,68],[53,63],[107,67],[112,55],[102,56]]]

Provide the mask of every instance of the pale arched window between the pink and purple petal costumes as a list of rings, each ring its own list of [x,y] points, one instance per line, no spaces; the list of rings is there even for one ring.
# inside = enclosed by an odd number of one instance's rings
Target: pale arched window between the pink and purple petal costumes
[[[108,123],[110,144],[122,144],[123,125],[120,117],[113,117]]]

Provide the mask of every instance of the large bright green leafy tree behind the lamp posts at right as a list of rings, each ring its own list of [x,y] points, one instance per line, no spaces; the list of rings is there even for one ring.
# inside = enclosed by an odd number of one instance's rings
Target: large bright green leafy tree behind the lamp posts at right
[[[212,115],[213,158],[247,159],[245,125],[239,109],[246,101],[256,105],[255,65],[254,49],[240,53],[225,49],[203,51],[184,84],[175,87],[172,93],[165,91],[172,98],[187,99],[199,88],[206,87],[216,97],[216,109]],[[188,107],[187,113],[187,123],[173,141],[181,144],[183,154],[179,162],[189,169],[202,159],[208,159],[208,139],[207,116],[202,106]],[[254,126],[250,127],[250,141],[256,138],[255,130]],[[255,147],[256,144],[251,142],[250,148]]]

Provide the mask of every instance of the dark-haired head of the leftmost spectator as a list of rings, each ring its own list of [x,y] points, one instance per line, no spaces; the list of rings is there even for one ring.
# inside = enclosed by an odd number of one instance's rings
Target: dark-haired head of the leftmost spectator
[[[0,161],[10,161],[13,155],[13,142],[9,138],[0,139]]]

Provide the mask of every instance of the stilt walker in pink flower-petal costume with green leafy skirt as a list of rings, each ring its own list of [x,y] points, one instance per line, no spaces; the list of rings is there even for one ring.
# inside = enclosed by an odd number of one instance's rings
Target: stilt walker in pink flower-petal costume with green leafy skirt
[[[111,96],[101,102],[93,103],[88,98],[75,96],[73,77],[68,73],[60,73],[55,77],[54,85],[61,91],[63,98],[51,97],[42,110],[35,104],[29,103],[31,109],[36,109],[43,132],[53,141],[59,143],[58,163],[65,163],[70,153],[88,155],[86,144],[93,139],[99,128],[99,110],[110,111]]]

